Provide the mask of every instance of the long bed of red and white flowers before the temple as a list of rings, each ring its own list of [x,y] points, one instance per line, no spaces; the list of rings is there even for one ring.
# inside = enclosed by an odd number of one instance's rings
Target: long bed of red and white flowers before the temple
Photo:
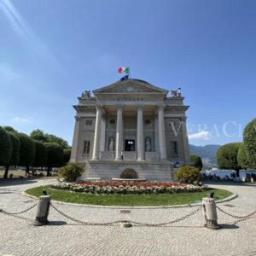
[[[56,183],[50,185],[52,189],[69,190],[90,194],[176,194],[200,192],[206,186],[182,183],[164,182],[124,182],[124,181],[96,181],[78,183]]]

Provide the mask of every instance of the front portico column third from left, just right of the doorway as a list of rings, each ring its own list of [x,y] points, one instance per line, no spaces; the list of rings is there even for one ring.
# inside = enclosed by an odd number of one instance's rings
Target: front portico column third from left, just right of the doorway
[[[143,107],[137,107],[137,161],[144,160]]]

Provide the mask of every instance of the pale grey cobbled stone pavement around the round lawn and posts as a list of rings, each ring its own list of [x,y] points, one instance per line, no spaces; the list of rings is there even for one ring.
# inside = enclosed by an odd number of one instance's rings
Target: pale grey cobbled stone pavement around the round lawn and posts
[[[35,201],[20,192],[53,180],[0,182],[0,207],[19,212]],[[256,209],[256,186],[212,185],[239,196],[218,204],[227,212],[246,215]],[[109,222],[131,219],[143,223],[162,223],[182,217],[197,207],[135,209],[120,213],[119,208],[54,204],[61,211],[84,221]],[[226,206],[228,205],[228,206]],[[220,230],[203,227],[202,210],[181,222],[165,227],[90,226],[74,223],[53,208],[50,224],[35,227],[27,218],[35,218],[36,208],[15,218],[0,213],[0,255],[256,255],[256,216],[236,222],[218,212]]]

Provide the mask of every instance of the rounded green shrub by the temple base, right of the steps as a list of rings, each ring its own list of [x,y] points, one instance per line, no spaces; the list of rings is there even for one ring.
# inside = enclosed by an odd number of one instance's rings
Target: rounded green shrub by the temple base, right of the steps
[[[201,173],[193,166],[182,166],[175,172],[175,177],[181,183],[192,184],[201,180]]]

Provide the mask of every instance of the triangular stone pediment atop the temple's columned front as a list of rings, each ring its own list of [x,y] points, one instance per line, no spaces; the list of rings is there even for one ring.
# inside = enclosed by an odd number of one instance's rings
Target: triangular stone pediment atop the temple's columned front
[[[119,81],[108,86],[104,86],[100,89],[94,90],[93,93],[97,94],[166,94],[168,91],[156,87],[148,82],[139,79],[127,79],[125,81]]]

